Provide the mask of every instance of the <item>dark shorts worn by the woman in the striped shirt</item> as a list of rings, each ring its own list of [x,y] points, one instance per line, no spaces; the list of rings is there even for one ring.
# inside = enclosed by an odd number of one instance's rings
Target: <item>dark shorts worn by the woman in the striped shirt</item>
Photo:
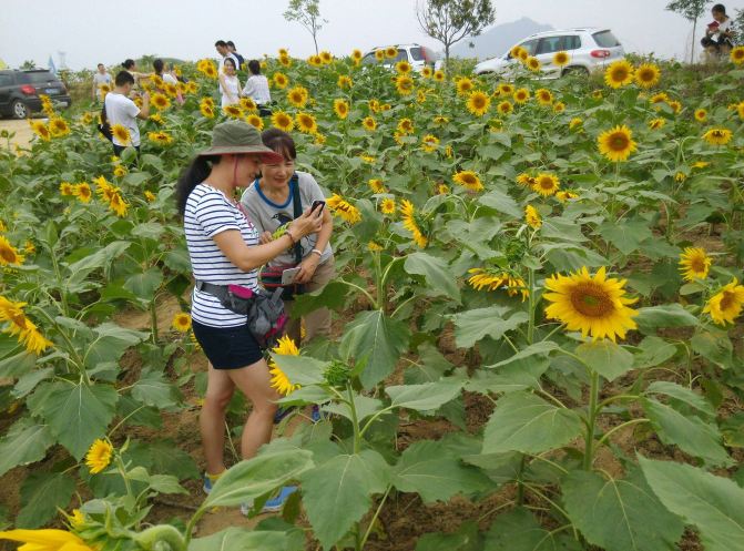
[[[264,357],[247,325],[208,327],[192,322],[194,336],[215,369],[237,369]]]

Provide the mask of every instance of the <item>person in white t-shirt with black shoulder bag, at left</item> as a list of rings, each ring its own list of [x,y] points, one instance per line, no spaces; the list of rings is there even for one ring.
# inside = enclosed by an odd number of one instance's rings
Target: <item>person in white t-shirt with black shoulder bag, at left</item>
[[[109,92],[103,101],[105,116],[113,131],[114,155],[120,156],[121,152],[132,146],[140,151],[140,127],[136,119],[146,120],[150,116],[150,94],[142,94],[142,109],[129,99],[129,94],[134,85],[134,76],[129,71],[120,71],[114,79],[114,89]],[[129,140],[122,141],[116,135],[115,125],[121,125],[129,132]]]

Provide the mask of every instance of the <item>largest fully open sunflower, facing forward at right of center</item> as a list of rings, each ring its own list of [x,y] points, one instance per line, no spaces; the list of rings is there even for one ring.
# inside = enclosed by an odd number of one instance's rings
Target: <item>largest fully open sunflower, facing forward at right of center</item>
[[[638,312],[629,308],[635,298],[625,296],[625,279],[608,278],[601,267],[594,276],[583,266],[579,272],[562,276],[554,274],[546,279],[543,294],[552,303],[546,308],[549,318],[564,324],[569,330],[580,330],[594,340],[609,337],[625,338],[629,329],[635,329],[633,317]]]

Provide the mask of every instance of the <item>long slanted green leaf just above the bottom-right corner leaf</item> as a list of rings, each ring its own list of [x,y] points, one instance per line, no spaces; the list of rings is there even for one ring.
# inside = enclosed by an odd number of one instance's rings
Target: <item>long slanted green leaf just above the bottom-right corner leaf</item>
[[[703,459],[712,467],[732,462],[715,425],[704,422],[697,417],[686,417],[653,398],[644,398],[642,405],[662,442],[674,443],[682,451]]]

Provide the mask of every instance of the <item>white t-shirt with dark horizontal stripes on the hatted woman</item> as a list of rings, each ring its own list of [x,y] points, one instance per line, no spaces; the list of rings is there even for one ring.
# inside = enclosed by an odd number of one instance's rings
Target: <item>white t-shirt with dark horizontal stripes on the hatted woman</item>
[[[220,251],[213,237],[227,229],[237,229],[246,245],[258,245],[258,232],[224,193],[206,184],[198,184],[188,195],[183,216],[188,257],[194,278],[215,285],[242,285],[258,288],[258,272],[243,272]],[[237,327],[245,316],[235,314],[208,293],[194,289],[191,317],[210,327]]]

